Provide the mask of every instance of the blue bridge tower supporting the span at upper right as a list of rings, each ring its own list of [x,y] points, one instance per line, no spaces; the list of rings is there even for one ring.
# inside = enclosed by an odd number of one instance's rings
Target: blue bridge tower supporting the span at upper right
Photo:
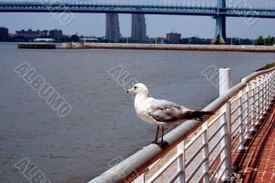
[[[217,0],[217,6],[219,8],[226,8],[225,0]],[[214,17],[216,19],[216,30],[215,30],[215,38],[219,35],[221,39],[226,39],[226,26],[225,26],[225,16],[216,15]]]

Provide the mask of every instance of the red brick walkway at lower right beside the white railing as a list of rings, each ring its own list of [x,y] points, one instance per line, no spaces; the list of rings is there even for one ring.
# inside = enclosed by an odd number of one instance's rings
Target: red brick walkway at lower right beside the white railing
[[[272,105],[262,125],[252,133],[252,140],[245,140],[246,151],[237,151],[232,157],[236,182],[275,182],[275,105]]]

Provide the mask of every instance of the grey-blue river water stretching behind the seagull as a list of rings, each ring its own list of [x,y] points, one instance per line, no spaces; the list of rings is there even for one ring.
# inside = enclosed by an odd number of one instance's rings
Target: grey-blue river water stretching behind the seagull
[[[29,182],[14,166],[23,158],[52,182],[87,182],[154,140],[155,126],[135,115],[133,98],[109,74],[121,65],[155,98],[202,109],[218,90],[201,71],[230,67],[232,81],[275,54],[154,50],[18,50],[0,44],[0,182]],[[28,62],[72,112],[58,116],[14,68]]]

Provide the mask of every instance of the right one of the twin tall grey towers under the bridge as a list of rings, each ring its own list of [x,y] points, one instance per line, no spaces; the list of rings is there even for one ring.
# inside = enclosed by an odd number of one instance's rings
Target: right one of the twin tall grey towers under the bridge
[[[132,14],[131,38],[134,41],[146,39],[146,23],[144,14]]]

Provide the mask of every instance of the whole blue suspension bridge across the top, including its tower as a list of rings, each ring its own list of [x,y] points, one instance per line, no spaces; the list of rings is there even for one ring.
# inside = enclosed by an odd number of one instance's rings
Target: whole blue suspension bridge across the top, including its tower
[[[174,14],[216,19],[215,37],[226,38],[226,17],[242,17],[248,25],[275,18],[273,0],[25,0],[0,1],[0,12],[76,12]]]

